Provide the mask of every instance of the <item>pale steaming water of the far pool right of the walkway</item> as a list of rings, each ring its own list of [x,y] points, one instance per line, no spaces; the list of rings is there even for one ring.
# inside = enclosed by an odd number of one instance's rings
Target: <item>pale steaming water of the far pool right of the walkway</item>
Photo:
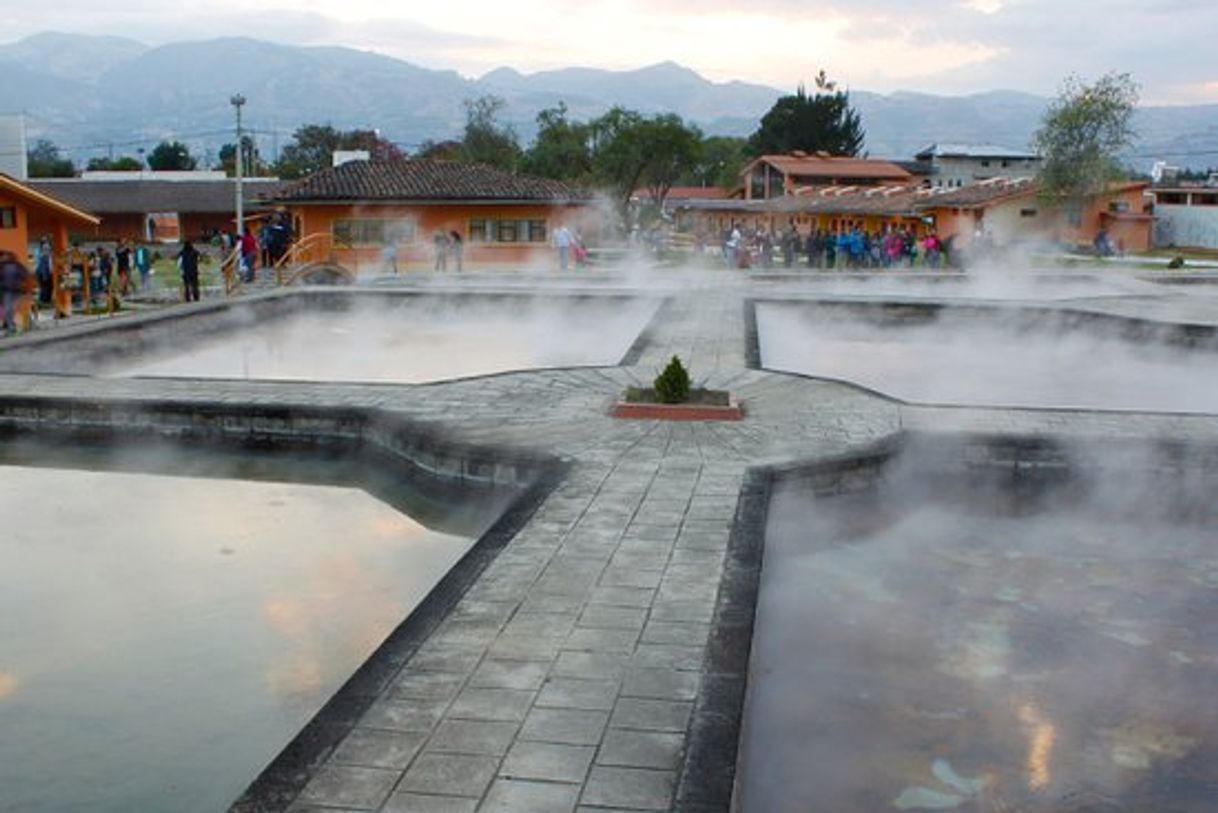
[[[758,305],[762,364],[906,401],[1218,413],[1218,353],[1013,323],[879,327]]]

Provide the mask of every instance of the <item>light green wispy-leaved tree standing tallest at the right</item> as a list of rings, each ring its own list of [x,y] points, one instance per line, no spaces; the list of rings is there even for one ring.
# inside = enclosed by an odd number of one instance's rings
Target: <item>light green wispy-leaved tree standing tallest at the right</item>
[[[1128,73],[1106,73],[1090,85],[1068,77],[1033,137],[1041,196],[1080,211],[1084,199],[1121,178],[1117,156],[1133,140],[1136,105],[1138,85]]]

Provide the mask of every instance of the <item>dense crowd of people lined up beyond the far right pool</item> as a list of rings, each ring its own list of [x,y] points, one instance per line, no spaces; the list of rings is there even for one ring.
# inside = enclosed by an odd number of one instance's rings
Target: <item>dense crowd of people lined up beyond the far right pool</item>
[[[773,268],[776,261],[784,268],[800,262],[823,269],[942,268],[949,264],[950,245],[935,232],[918,238],[895,225],[879,232],[857,225],[812,229],[805,235],[794,224],[781,232],[733,224],[722,232],[720,254],[728,268]]]

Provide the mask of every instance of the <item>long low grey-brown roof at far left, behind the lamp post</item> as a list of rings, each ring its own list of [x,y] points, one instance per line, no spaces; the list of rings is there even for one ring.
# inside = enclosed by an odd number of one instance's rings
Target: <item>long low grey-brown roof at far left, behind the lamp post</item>
[[[99,215],[147,215],[149,212],[231,212],[236,180],[83,180],[58,178],[32,180],[34,189]],[[251,211],[258,200],[273,195],[278,180],[246,179],[242,194]]]

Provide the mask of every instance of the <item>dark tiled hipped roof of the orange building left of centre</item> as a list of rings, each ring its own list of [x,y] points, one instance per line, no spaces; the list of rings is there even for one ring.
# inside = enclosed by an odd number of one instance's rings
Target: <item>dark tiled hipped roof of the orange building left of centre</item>
[[[289,185],[276,201],[586,201],[559,180],[530,178],[477,163],[402,158],[348,161]]]

